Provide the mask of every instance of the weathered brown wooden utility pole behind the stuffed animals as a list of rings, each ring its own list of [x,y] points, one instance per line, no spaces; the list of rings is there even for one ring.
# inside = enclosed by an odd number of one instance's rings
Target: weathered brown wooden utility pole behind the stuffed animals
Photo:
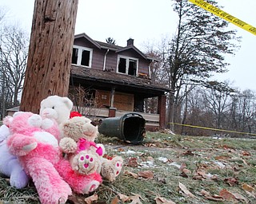
[[[78,0],[35,0],[20,110],[39,112],[47,96],[67,96]]]

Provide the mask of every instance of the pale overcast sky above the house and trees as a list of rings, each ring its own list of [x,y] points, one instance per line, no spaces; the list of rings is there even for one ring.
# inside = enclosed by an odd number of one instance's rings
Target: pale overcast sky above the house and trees
[[[216,0],[222,10],[256,27],[255,0]],[[97,41],[113,37],[118,45],[134,38],[134,45],[142,49],[147,42],[161,41],[172,36],[177,17],[171,0],[79,0],[75,33],[86,33]],[[1,0],[0,6],[8,10],[6,22],[18,22],[30,32],[34,0]],[[231,65],[228,73],[216,76],[230,80],[234,87],[256,91],[256,35],[230,23],[242,37],[241,49],[234,57],[226,57]]]

